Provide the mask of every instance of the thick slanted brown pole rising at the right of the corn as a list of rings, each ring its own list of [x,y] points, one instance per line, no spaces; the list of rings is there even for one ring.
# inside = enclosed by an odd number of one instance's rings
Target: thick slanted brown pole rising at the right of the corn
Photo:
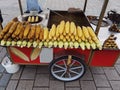
[[[97,24],[97,27],[96,27],[96,30],[95,30],[95,34],[96,35],[98,35],[98,33],[99,33],[100,26],[101,26],[101,23],[102,23],[102,20],[103,20],[103,17],[104,17],[106,8],[107,8],[108,1],[109,0],[104,0],[104,4],[102,6],[102,10],[101,10],[101,13],[100,13],[99,21],[98,21],[98,24]]]

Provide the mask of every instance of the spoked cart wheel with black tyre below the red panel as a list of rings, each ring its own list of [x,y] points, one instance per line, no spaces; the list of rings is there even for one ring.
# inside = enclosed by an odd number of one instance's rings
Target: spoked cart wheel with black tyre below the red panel
[[[63,56],[50,63],[50,74],[60,81],[74,81],[85,74],[86,67],[82,59],[72,56],[71,62],[67,65],[68,56]]]

